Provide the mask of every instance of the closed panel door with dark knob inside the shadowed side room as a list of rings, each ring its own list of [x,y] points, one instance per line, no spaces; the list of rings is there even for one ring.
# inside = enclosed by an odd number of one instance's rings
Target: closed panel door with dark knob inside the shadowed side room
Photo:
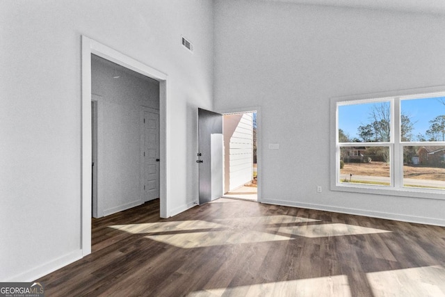
[[[147,109],[143,120],[143,200],[159,198],[159,111]]]

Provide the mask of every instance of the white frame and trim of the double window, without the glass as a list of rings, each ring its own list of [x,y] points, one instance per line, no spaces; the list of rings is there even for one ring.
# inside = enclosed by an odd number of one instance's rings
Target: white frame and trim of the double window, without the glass
[[[423,97],[424,95],[434,96],[444,94],[445,86],[435,86],[430,88],[417,88],[410,90],[395,90],[385,93],[371,93],[362,95],[351,95],[344,97],[332,97],[330,99],[330,189],[331,191],[344,191],[352,193],[368,193],[376,195],[393,195],[412,198],[424,198],[445,200],[445,190],[433,188],[409,188],[403,187],[403,146],[404,145],[444,145],[445,142],[401,142],[400,138],[400,102],[401,99],[414,99]],[[391,102],[391,136],[388,143],[360,143],[362,146],[389,146],[391,156],[391,185],[364,185],[349,184],[339,182],[339,166],[337,161],[339,154],[337,104],[344,102],[345,104],[353,104],[354,102]],[[397,115],[397,116],[396,116]],[[341,143],[342,146],[357,146],[357,143]]]

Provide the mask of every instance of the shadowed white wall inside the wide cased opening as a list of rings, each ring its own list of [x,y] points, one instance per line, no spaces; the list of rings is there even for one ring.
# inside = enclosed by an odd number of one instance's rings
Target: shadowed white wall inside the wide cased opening
[[[159,110],[159,82],[92,56],[91,92],[98,95],[98,216],[143,203],[143,106]],[[118,74],[119,78],[113,78]]]

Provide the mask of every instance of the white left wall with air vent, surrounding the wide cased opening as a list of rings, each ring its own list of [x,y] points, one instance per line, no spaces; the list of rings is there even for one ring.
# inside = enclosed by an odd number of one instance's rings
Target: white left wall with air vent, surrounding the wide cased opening
[[[81,35],[168,74],[170,215],[193,205],[195,108],[213,109],[212,7],[0,1],[1,281],[33,280],[81,257]]]

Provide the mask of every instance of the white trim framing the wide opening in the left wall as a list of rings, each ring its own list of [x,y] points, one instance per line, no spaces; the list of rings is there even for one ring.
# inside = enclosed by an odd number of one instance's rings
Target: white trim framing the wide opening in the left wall
[[[167,99],[168,75],[106,45],[81,36],[81,250],[83,257],[91,253],[91,54],[117,63],[159,81],[159,195],[160,216],[168,218]]]

